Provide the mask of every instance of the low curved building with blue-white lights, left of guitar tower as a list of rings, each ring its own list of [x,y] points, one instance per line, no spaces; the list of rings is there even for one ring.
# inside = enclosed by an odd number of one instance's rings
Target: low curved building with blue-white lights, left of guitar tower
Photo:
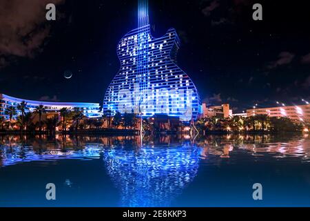
[[[27,102],[27,107],[29,108],[26,111],[31,112],[33,112],[34,109],[37,108],[37,106],[43,105],[47,113],[56,113],[61,108],[68,108],[68,111],[73,111],[74,108],[79,108],[81,111],[83,111],[83,114],[86,117],[101,117],[102,115],[102,113],[100,112],[100,106],[96,103],[41,102],[28,99],[20,99],[0,94],[0,116],[8,118],[8,116],[5,115],[6,108],[8,108],[8,106],[14,106],[16,108],[17,105],[23,101]],[[17,115],[20,114],[20,111],[17,110]]]

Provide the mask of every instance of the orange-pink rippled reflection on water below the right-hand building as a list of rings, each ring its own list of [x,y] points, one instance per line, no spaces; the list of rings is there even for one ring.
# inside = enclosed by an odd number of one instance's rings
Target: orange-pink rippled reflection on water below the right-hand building
[[[205,160],[209,155],[218,155],[220,158],[229,158],[236,151],[248,151],[249,154],[260,157],[260,154],[269,154],[271,157],[301,157],[310,158],[309,135],[291,137],[287,142],[278,142],[271,135],[227,135],[221,139],[209,136],[198,141],[203,148],[201,157]]]

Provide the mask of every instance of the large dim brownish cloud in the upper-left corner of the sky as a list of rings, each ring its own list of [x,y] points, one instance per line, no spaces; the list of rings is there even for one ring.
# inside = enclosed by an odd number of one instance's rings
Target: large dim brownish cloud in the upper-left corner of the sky
[[[65,0],[0,1],[0,68],[14,57],[32,58],[50,34],[45,6]]]

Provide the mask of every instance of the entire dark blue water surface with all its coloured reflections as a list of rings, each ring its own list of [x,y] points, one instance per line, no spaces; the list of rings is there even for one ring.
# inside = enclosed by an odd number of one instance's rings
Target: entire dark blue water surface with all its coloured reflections
[[[310,138],[2,136],[0,206],[310,206]]]

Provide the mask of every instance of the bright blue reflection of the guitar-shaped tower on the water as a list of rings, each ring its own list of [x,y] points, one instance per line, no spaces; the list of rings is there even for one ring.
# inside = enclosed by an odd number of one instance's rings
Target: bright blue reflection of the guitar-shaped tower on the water
[[[198,171],[197,146],[107,149],[103,160],[121,206],[169,206]]]

